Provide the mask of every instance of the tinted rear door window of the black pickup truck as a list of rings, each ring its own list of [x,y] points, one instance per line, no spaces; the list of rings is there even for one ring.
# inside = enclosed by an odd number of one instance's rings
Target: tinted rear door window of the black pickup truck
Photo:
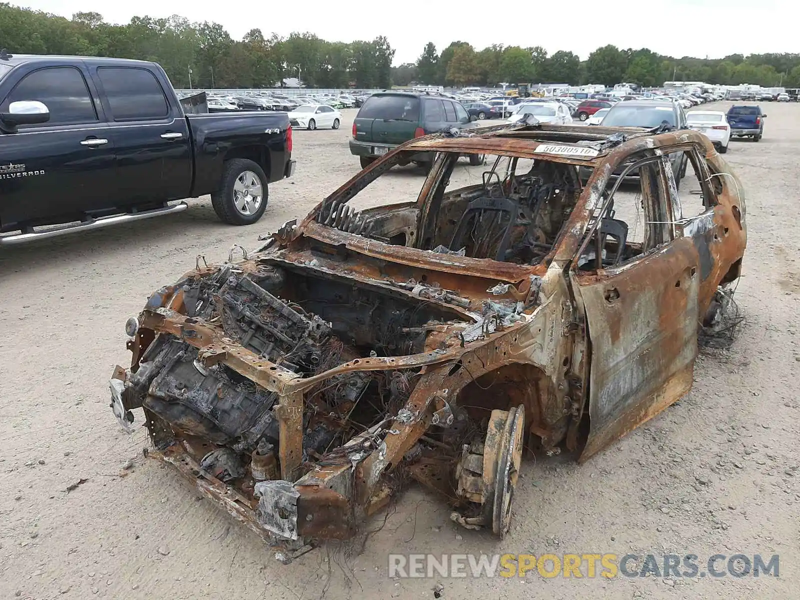
[[[98,77],[114,121],[144,121],[169,114],[164,92],[149,70],[101,66]]]

